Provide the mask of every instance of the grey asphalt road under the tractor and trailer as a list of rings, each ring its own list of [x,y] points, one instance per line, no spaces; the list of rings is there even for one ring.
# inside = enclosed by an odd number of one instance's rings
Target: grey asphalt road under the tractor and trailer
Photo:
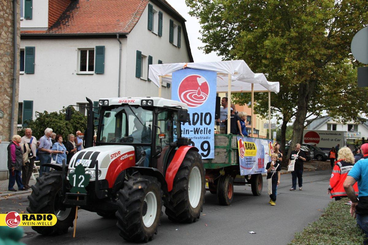
[[[291,174],[281,175],[276,206],[268,204],[266,185],[259,197],[252,195],[248,185],[235,187],[230,206],[219,206],[216,195],[207,192],[204,211],[196,223],[176,224],[163,215],[158,235],[149,244],[287,244],[294,238],[294,233],[318,219],[331,200],[326,194],[330,170],[304,172],[303,175],[303,191],[289,191]],[[265,177],[263,183],[266,183]],[[0,201],[2,213],[5,210],[20,212],[18,209],[23,210],[26,206],[26,196]],[[114,219],[104,219],[81,210],[78,213],[76,238],[72,238],[72,228],[66,235],[47,237],[25,227],[29,237],[23,238],[22,242],[37,245],[129,244],[118,235],[115,224]]]

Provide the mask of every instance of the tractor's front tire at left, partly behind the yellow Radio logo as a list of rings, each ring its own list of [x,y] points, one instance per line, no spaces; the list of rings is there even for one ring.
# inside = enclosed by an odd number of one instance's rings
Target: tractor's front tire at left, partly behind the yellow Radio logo
[[[60,171],[43,173],[31,187],[32,193],[28,196],[28,213],[51,213],[57,217],[54,226],[32,226],[32,229],[39,234],[65,234],[69,227],[73,227],[75,207],[65,208],[62,203],[61,174]]]

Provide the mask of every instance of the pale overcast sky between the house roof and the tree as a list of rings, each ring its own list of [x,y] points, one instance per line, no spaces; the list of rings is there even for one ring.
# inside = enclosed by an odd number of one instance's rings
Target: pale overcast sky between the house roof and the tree
[[[185,5],[185,0],[166,1],[168,1],[169,4],[187,20],[187,22],[185,22],[185,26],[187,27],[189,43],[194,62],[221,61],[221,57],[218,57],[215,53],[204,54],[202,50],[198,49],[198,47],[204,46],[204,44],[198,40],[198,37],[201,36],[201,33],[199,33],[201,26],[195,17],[191,17],[188,14],[190,8]]]

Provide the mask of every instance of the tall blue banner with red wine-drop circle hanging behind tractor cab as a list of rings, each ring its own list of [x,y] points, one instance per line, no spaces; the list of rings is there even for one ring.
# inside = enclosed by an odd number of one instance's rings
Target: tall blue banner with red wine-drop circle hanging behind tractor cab
[[[183,123],[181,136],[190,138],[202,159],[215,158],[216,72],[182,69],[173,72],[171,99],[188,105],[190,123]]]

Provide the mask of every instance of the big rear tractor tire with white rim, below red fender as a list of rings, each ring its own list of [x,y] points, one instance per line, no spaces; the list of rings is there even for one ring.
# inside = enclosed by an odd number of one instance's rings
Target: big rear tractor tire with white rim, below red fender
[[[195,222],[201,216],[205,195],[201,155],[189,150],[176,173],[165,213],[174,222]]]

